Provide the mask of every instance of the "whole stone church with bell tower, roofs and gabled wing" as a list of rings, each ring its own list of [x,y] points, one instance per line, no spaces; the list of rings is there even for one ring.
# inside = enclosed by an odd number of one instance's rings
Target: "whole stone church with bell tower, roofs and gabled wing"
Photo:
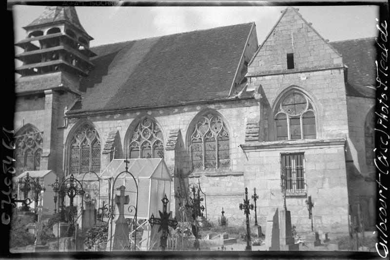
[[[223,207],[232,225],[244,221],[245,187],[256,188],[265,230],[285,180],[298,232],[311,231],[309,196],[316,230],[348,233],[358,204],[374,225],[374,38],[329,42],[292,7],[260,43],[244,23],[90,47],[64,6],[23,28],[17,174],[100,174],[113,159],[163,158],[176,218],[181,182],[201,186],[209,220]]]

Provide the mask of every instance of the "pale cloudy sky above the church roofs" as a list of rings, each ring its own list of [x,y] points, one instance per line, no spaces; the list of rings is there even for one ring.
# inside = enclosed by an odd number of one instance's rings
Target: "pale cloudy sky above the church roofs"
[[[272,3],[272,2],[271,2]],[[378,7],[295,6],[325,39],[339,41],[376,37]],[[285,6],[154,6],[76,7],[80,23],[95,39],[90,46],[163,36],[218,26],[255,22],[259,44],[265,39]],[[44,6],[13,7],[15,40],[26,37],[26,26],[43,12]],[[17,53],[22,50],[19,47]]]

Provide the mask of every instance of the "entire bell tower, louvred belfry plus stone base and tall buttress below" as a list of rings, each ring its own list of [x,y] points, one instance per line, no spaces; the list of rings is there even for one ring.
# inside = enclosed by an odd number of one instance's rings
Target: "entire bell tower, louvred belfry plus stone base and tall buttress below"
[[[75,7],[69,6],[48,6],[23,29],[26,38],[15,44],[23,52],[16,55],[22,65],[16,68],[20,77],[15,84],[14,128],[32,125],[42,134],[39,169],[61,177],[65,113],[82,98],[80,79],[94,68],[90,58],[96,54],[89,48],[93,37],[81,26]],[[27,159],[20,158],[20,167]]]

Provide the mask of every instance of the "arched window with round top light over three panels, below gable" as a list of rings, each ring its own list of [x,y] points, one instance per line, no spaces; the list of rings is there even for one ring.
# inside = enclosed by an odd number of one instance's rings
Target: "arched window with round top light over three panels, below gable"
[[[315,114],[303,93],[285,95],[275,114],[276,140],[315,139]]]

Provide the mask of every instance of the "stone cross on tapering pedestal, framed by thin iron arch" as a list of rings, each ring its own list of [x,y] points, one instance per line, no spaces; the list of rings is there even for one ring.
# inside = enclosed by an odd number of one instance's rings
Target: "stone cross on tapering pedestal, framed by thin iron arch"
[[[112,228],[108,227],[107,251],[110,249],[111,251],[129,250],[130,246],[129,225],[123,215],[124,205],[129,204],[130,198],[129,195],[125,196],[125,186],[122,185],[117,190],[120,190],[120,195],[115,195],[114,201],[117,204],[119,214],[116,220],[110,222]],[[111,234],[111,230],[114,231],[114,234]]]

